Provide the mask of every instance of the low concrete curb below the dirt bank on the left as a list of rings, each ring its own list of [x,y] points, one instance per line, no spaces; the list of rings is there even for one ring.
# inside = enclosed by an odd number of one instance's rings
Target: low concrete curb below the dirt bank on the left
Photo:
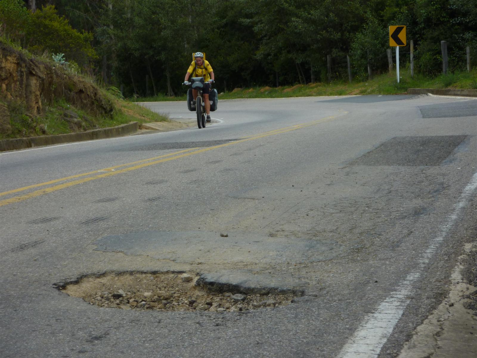
[[[88,130],[81,133],[59,134],[56,136],[40,136],[31,138],[15,138],[0,140],[0,151],[25,149],[31,147],[49,146],[69,142],[81,142],[83,140],[104,139],[122,137],[137,132],[139,122],[131,122],[122,126]]]

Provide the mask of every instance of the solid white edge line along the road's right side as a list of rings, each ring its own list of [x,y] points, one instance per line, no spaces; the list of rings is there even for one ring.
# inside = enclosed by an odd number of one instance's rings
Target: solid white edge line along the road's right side
[[[404,309],[413,295],[413,284],[421,276],[423,269],[436,253],[439,244],[456,223],[460,212],[467,206],[472,193],[477,188],[477,172],[474,173],[454,205],[454,212],[439,226],[439,234],[431,242],[418,261],[418,267],[407,275],[389,297],[377,306],[376,311],[367,315],[353,336],[344,345],[338,358],[376,358],[391,335]]]

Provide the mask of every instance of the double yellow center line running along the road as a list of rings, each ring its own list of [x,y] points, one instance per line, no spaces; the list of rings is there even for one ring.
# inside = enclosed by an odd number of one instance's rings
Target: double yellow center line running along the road
[[[113,175],[126,173],[126,172],[131,171],[131,170],[136,170],[136,169],[148,167],[150,165],[164,163],[164,162],[167,162],[167,161],[170,161],[170,160],[175,160],[175,159],[179,159],[179,158],[188,157],[188,156],[191,156],[191,155],[204,153],[204,152],[207,152],[209,150],[213,150],[213,149],[217,149],[217,148],[221,148],[221,147],[228,147],[228,146],[231,146],[231,145],[234,145],[234,144],[247,142],[249,140],[255,140],[255,139],[259,139],[259,138],[274,136],[274,135],[277,135],[277,134],[294,131],[294,130],[301,129],[301,128],[308,127],[308,126],[314,126],[316,124],[331,120],[332,118],[335,118],[335,117],[334,116],[329,116],[329,117],[321,118],[319,120],[308,122],[308,123],[303,123],[303,124],[298,124],[298,125],[294,125],[294,126],[275,129],[275,130],[271,130],[269,132],[261,133],[261,134],[258,134],[258,135],[244,137],[242,139],[239,139],[239,140],[236,140],[236,141],[233,141],[233,142],[219,144],[217,146],[205,147],[205,148],[199,148],[199,147],[189,148],[189,149],[180,150],[178,152],[169,153],[169,154],[159,156],[159,157],[142,159],[142,160],[138,160],[138,161],[131,162],[131,163],[117,165],[117,166],[114,166],[114,167],[104,168],[104,169],[100,169],[100,170],[94,170],[94,171],[90,171],[90,172],[83,173],[83,174],[76,174],[76,175],[72,175],[72,176],[69,176],[69,177],[64,177],[64,178],[61,178],[61,179],[46,181],[46,182],[43,182],[43,183],[40,183],[40,184],[34,184],[34,185],[29,185],[29,186],[14,189],[14,190],[0,192],[0,196],[4,196],[4,195],[9,195],[9,194],[14,194],[14,193],[17,193],[17,192],[20,192],[20,191],[24,191],[24,190],[29,190],[29,189],[33,189],[33,188],[38,188],[38,187],[50,185],[50,184],[55,184],[55,183],[58,183],[58,182],[64,181],[64,180],[81,178],[81,179],[76,179],[76,180],[73,180],[73,181],[69,181],[67,183],[54,185],[54,186],[49,187],[49,188],[35,190],[35,191],[32,191],[28,194],[12,197],[10,199],[1,200],[0,201],[0,206],[4,206],[4,205],[20,202],[20,201],[23,201],[23,200],[35,198],[35,197],[43,195],[43,194],[48,194],[48,193],[51,193],[51,192],[56,191],[56,190],[61,190],[61,189],[72,187],[74,185],[83,184],[83,183],[86,183],[86,182],[91,181],[91,180],[112,177]],[[116,170],[118,168],[123,168],[123,167],[127,167],[127,168]],[[98,174],[98,172],[103,172],[103,171],[105,173]],[[93,175],[93,174],[96,174],[96,175]],[[86,178],[82,178],[82,177],[86,177]]]

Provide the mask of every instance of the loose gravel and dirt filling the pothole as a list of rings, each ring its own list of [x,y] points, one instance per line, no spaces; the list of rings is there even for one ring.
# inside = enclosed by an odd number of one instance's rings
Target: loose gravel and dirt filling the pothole
[[[121,273],[88,276],[63,292],[91,305],[125,310],[239,312],[290,305],[292,294],[212,292],[195,284],[196,274]]]

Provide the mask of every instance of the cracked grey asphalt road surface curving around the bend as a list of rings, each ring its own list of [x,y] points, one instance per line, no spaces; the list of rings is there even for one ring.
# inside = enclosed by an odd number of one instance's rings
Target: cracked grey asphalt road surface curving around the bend
[[[228,100],[212,117],[205,129],[0,154],[1,357],[400,351],[477,236],[477,101]],[[131,270],[304,295],[245,313],[136,312],[53,287]]]

